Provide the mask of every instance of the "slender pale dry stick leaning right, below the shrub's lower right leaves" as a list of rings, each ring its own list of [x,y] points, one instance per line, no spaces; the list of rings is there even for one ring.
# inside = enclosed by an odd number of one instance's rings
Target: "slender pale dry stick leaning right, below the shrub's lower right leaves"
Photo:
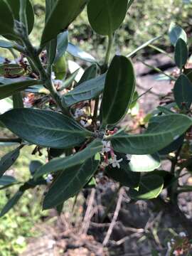
[[[121,188],[120,191],[119,191],[119,198],[118,198],[118,201],[117,201],[117,206],[114,210],[112,223],[110,224],[110,228],[107,231],[107,235],[105,236],[105,239],[102,242],[102,245],[104,245],[104,246],[107,245],[107,243],[110,240],[110,236],[112,235],[112,230],[114,229],[114,225],[116,224],[116,221],[117,221],[117,218],[118,218],[118,215],[119,215],[119,210],[120,210],[121,205],[122,205],[122,199],[123,199],[123,188]]]

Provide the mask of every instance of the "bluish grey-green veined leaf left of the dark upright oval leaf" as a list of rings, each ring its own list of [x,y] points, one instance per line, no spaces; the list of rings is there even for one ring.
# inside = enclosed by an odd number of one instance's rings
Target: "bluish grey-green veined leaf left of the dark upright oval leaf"
[[[63,102],[68,107],[75,105],[78,102],[91,100],[102,93],[105,85],[106,74],[100,75],[75,87],[63,96]]]

